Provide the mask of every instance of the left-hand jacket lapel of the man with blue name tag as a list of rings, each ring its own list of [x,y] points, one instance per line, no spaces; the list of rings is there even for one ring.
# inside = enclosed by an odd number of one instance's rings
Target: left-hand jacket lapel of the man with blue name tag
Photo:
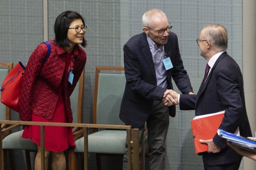
[[[151,51],[149,49],[149,45],[148,45],[148,40],[147,40],[147,35],[145,33],[142,33],[142,41],[141,41],[141,52],[148,64],[148,67],[152,73],[152,75],[154,76],[154,79],[156,81],[156,74],[155,74],[155,66],[154,66],[154,62],[153,62],[153,57],[151,54]]]

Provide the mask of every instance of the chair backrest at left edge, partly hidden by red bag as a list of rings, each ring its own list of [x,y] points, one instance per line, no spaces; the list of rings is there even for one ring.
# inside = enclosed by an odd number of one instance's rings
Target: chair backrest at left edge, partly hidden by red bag
[[[13,63],[0,62],[0,86],[13,68]],[[1,93],[0,93],[1,97]],[[5,114],[4,114],[5,113]],[[11,109],[0,102],[0,120],[11,120]]]

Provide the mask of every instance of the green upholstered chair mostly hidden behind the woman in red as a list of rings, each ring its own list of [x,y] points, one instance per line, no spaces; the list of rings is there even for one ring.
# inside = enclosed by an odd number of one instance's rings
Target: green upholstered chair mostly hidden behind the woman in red
[[[73,123],[82,123],[82,120],[83,120],[82,118],[83,84],[84,84],[84,69],[79,78],[79,82],[77,83],[70,97],[71,108],[73,112]],[[73,132],[75,131],[76,129],[73,128]],[[22,138],[22,133],[23,133],[23,130],[7,135],[7,137],[3,139],[3,150],[4,150],[4,153],[6,153],[6,151],[11,151],[12,149],[25,150],[27,170],[31,170],[31,161],[30,161],[29,152],[37,152],[37,146],[30,139]],[[70,163],[69,163],[69,166],[70,166]]]

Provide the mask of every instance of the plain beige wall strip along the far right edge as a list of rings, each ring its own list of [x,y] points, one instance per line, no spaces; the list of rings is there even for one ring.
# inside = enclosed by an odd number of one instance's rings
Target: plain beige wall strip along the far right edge
[[[245,102],[252,129],[256,130],[256,0],[243,0],[243,76]],[[255,170],[256,161],[244,158],[244,170]]]

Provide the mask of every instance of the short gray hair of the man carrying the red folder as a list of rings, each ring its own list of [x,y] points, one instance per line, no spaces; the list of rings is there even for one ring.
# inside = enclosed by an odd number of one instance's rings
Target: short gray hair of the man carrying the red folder
[[[227,50],[227,29],[220,24],[207,24],[204,26],[205,39],[210,41],[218,52]]]

